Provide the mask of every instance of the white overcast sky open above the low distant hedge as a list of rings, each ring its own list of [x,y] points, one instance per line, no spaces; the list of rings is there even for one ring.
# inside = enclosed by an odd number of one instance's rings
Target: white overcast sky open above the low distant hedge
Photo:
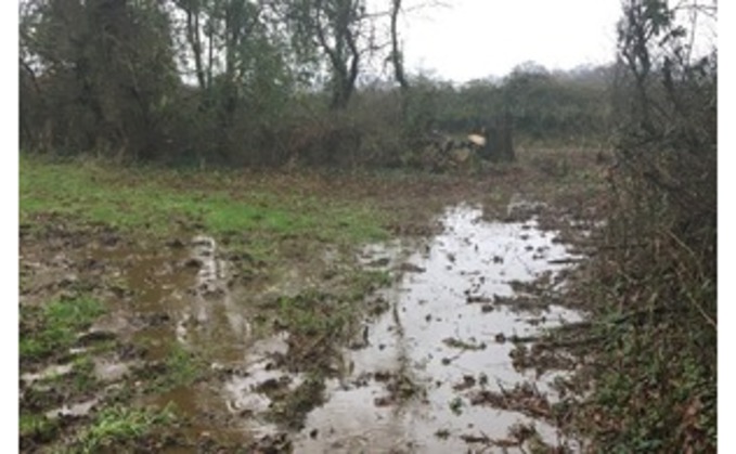
[[[620,0],[444,0],[412,11],[401,30],[408,69],[464,82],[502,77],[519,63],[548,69],[614,60]]]

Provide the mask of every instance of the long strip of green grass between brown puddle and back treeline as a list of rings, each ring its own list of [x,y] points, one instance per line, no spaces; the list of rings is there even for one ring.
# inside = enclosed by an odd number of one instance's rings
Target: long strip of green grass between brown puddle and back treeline
[[[176,221],[202,224],[210,234],[268,233],[321,241],[386,237],[370,206],[339,194],[302,194],[218,172],[112,168],[22,156],[21,222],[55,213],[124,231],[165,235]]]

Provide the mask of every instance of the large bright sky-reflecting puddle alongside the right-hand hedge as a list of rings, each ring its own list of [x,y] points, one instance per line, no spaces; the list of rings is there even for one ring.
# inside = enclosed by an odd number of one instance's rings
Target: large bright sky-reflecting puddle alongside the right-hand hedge
[[[296,452],[465,452],[469,441],[504,439],[516,423],[532,423],[556,441],[542,421],[472,402],[482,390],[524,381],[550,391],[553,375],[515,371],[514,346],[502,340],[580,315],[501,301],[514,296],[513,282],[554,277],[572,257],[533,220],[491,223],[481,215],[468,206],[448,210],[443,233],[400,264],[402,278],[384,294],[392,309],[366,326],[364,348],[346,351],[351,373],[331,382]],[[363,258],[391,267],[395,256],[390,247],[372,247]]]

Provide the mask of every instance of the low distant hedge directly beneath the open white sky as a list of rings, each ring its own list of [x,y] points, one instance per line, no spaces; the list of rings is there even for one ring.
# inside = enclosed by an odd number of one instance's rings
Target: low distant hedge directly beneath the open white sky
[[[461,87],[425,77],[412,81],[408,128],[468,133],[511,114],[522,140],[569,143],[602,140],[611,124],[610,67],[550,73],[527,63],[502,80],[475,80]]]

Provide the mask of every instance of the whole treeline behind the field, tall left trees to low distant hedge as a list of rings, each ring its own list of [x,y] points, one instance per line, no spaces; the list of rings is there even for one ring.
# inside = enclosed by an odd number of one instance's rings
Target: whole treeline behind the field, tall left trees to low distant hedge
[[[400,14],[401,0],[24,0],[22,148],[391,165],[434,129],[501,115],[522,138],[605,134],[611,68],[525,64],[455,87],[406,73]]]

